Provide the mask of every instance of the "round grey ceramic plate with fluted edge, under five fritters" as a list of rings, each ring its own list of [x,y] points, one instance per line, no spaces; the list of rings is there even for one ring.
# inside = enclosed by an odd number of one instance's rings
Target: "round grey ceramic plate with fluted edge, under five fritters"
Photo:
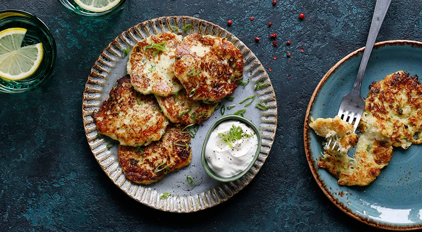
[[[258,160],[254,166],[242,178],[230,183],[222,183],[213,180],[202,167],[201,149],[208,128],[219,117],[220,111],[214,114],[203,124],[191,141],[192,162],[189,166],[179,171],[167,174],[162,180],[151,185],[141,185],[131,182],[125,177],[119,165],[117,158],[117,145],[115,141],[109,138],[97,137],[97,127],[92,117],[92,113],[99,109],[112,87],[116,85],[118,78],[125,75],[126,63],[128,57],[123,58],[123,50],[134,46],[138,41],[156,35],[165,31],[170,31],[170,26],[176,26],[179,31],[187,24],[191,28],[183,32],[182,35],[200,32],[218,37],[225,37],[232,42],[243,54],[245,80],[249,79],[251,83],[244,89],[238,87],[233,97],[233,102],[222,102],[226,105],[236,104],[236,107],[227,110],[227,114],[233,114],[237,110],[243,109],[239,104],[244,98],[256,94],[257,98],[253,104],[246,107],[244,116],[251,120],[260,128],[262,135],[262,146]],[[269,84],[258,91],[254,91],[257,82]],[[254,105],[258,102],[266,104],[269,109],[260,111]],[[82,116],[86,137],[95,159],[103,168],[110,179],[136,201],[163,211],[187,213],[206,209],[225,202],[231,196],[239,192],[254,178],[268,157],[271,146],[274,141],[277,126],[277,104],[273,86],[262,64],[255,57],[249,48],[247,48],[238,38],[233,36],[227,30],[212,24],[210,22],[189,17],[189,16],[171,16],[155,18],[140,23],[119,35],[106,49],[101,53],[93,66],[88,81],[85,86],[82,100]],[[106,136],[104,136],[106,137]],[[114,145],[107,148],[107,145]],[[186,175],[192,176],[194,185],[191,186],[186,181]],[[164,192],[170,192],[171,196],[160,199]]]

